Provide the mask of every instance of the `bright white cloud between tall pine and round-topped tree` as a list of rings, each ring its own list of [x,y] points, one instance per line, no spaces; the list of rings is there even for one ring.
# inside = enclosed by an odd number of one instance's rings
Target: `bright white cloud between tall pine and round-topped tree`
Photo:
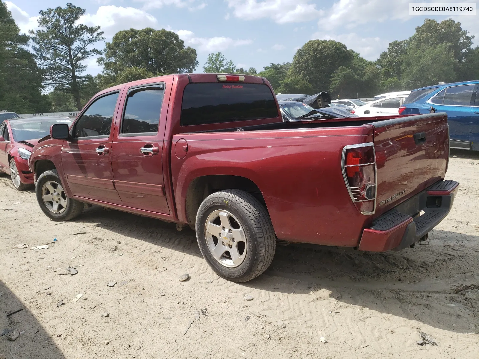
[[[80,17],[79,22],[88,26],[101,26],[107,40],[120,30],[158,28],[158,20],[148,12],[115,5],[100,6],[95,14],[85,14]]]

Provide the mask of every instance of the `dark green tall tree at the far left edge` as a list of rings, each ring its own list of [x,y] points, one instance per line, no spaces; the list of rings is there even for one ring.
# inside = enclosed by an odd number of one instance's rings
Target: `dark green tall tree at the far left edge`
[[[0,1],[0,110],[46,112],[50,104],[42,94],[42,71],[26,48],[29,37],[19,33]]]

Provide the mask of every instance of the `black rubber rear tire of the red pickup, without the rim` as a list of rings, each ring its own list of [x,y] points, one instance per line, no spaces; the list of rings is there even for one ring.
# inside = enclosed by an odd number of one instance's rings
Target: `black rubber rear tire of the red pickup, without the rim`
[[[222,265],[208,247],[205,225],[210,214],[217,210],[233,214],[244,231],[248,249],[238,267]],[[250,193],[240,190],[219,191],[205,198],[196,215],[196,239],[203,258],[217,275],[235,282],[246,282],[262,274],[273,261],[276,250],[276,235],[266,208]]]

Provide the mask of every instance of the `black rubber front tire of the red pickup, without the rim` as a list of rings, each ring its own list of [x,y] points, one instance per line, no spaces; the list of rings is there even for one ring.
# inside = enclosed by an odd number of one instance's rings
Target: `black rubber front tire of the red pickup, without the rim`
[[[42,191],[44,190],[44,185],[49,181],[56,182],[63,187],[56,169],[45,171],[38,177],[35,188],[36,200],[38,201],[43,213],[45,213],[46,216],[53,221],[69,221],[79,216],[81,211],[83,211],[85,204],[83,202],[74,200],[73,198],[68,198],[66,194],[64,196],[64,200],[66,200],[67,204],[61,213],[52,212],[52,210],[47,207],[45,201],[43,200]]]

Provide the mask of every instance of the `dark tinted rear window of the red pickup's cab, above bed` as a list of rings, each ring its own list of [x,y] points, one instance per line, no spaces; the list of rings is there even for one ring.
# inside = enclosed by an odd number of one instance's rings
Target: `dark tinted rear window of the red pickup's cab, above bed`
[[[266,85],[192,83],[183,92],[182,126],[274,117],[278,109]]]

